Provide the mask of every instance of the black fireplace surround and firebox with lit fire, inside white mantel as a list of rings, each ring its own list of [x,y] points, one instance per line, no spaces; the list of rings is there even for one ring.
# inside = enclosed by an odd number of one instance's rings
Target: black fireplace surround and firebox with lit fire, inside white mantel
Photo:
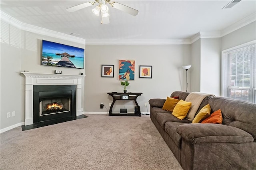
[[[76,85],[34,85],[33,123],[76,116]]]

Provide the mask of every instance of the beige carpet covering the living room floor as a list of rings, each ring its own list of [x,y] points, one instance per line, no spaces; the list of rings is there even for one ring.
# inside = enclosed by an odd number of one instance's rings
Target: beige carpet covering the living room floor
[[[148,115],[78,119],[1,134],[1,170],[182,170]]]

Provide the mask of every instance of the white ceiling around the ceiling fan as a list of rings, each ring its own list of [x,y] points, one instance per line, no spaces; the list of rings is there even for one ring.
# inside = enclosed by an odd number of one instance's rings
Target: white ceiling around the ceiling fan
[[[177,40],[198,32],[221,32],[253,16],[256,0],[242,0],[222,9],[230,0],[116,0],[139,11],[132,16],[110,7],[110,24],[100,24],[94,6],[76,12],[66,8],[94,0],[1,0],[1,11],[18,21],[87,40]],[[250,17],[252,18],[252,17]]]

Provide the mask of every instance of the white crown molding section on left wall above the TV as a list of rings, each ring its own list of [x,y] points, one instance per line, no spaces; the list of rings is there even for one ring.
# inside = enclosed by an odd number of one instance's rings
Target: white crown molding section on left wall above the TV
[[[1,20],[7,22],[8,24],[15,26],[16,28],[19,28],[20,30],[24,30],[24,31],[28,31],[28,32],[32,32],[35,34],[41,34],[41,35],[47,35],[53,38],[59,38],[62,40],[67,40],[67,41],[71,41],[71,42],[76,42],[76,43],[81,43],[85,45],[85,39],[83,38],[78,38],[78,37],[74,37],[74,36],[70,36],[68,34],[64,34],[64,33],[60,33],[60,32],[56,32],[56,31],[52,31],[52,30],[48,30],[45,28],[41,28],[38,26],[33,26],[30,24],[25,24],[20,22],[19,20],[9,16],[8,14],[4,13],[1,11]]]

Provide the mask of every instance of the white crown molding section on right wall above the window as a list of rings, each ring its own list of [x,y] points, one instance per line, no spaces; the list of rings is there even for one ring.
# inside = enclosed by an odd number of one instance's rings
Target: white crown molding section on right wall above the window
[[[254,21],[256,21],[256,12],[254,12],[253,14],[250,14],[246,18],[232,24],[231,26],[221,30],[221,37],[226,36],[227,34],[230,34],[231,32],[234,32],[234,31],[238,30],[239,28],[242,28]]]

